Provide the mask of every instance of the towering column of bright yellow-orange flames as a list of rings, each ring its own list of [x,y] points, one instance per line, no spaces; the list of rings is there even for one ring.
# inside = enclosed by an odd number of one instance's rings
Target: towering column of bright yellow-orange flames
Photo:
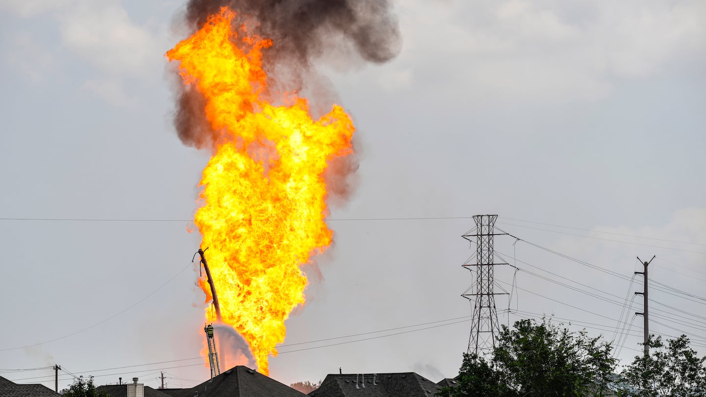
[[[332,232],[323,173],[352,153],[355,131],[342,107],[313,120],[306,99],[265,96],[262,52],[276,42],[236,26],[222,8],[201,30],[167,52],[180,62],[185,85],[205,97],[205,116],[220,139],[203,170],[195,223],[208,249],[223,321],[249,343],[258,370],[285,340],[285,320],[304,304],[299,266],[326,249]],[[205,279],[201,287],[210,300]],[[206,310],[209,321],[215,316]]]

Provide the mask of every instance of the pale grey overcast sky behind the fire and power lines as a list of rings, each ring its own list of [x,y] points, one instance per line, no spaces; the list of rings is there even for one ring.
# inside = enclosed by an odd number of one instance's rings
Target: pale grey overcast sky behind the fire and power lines
[[[0,1],[0,376],[53,388],[51,369],[3,371],[59,364],[98,384],[156,387],[162,369],[170,387],[208,378],[202,359],[182,360],[203,347],[200,238],[187,227],[208,153],[171,124],[164,52],[183,38],[172,28],[181,7]],[[651,291],[650,330],[687,333],[706,354],[706,3],[405,0],[395,11],[396,59],[348,70],[322,60],[358,129],[358,187],[333,208],[335,244],[285,345],[455,320],[285,346],[270,376],[454,377],[470,330],[457,321],[472,314],[460,294],[474,281],[460,267],[474,247],[460,236],[480,213],[628,279],[635,256],[657,255],[650,278],[693,296]],[[527,271],[621,303],[628,280],[514,242],[496,239],[522,269],[515,290],[513,269],[496,270],[513,310],[613,337],[621,304]],[[635,280],[630,294],[642,291]],[[316,348],[401,331],[412,332]],[[623,363],[641,348],[641,318],[630,334]],[[153,362],[167,363],[97,371]]]

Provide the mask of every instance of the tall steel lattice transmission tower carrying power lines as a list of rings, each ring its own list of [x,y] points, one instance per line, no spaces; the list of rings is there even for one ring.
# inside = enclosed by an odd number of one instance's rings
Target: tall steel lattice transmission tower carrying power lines
[[[495,295],[505,295],[493,292],[493,266],[508,263],[495,263],[493,253],[493,237],[507,233],[495,232],[495,221],[498,215],[475,215],[476,227],[462,237],[476,243],[476,263],[465,263],[462,266],[476,271],[474,288],[469,288],[472,294],[463,294],[473,306],[471,335],[468,339],[468,353],[487,355],[495,347],[496,338],[500,332],[498,312],[495,307]],[[475,234],[472,234],[475,231]]]

